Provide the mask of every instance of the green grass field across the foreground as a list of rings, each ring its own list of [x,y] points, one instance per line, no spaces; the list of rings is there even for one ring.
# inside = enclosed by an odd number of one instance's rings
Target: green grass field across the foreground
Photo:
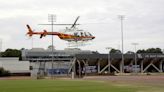
[[[149,92],[141,90],[145,88],[84,80],[0,80],[0,92]]]

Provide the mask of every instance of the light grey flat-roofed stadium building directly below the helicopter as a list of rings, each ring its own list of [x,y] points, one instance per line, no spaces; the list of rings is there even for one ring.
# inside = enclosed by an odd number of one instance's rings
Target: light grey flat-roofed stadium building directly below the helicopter
[[[92,54],[89,50],[78,48],[55,50],[33,48],[22,51],[22,59],[30,61],[31,76],[67,76],[73,66],[76,54]],[[52,58],[53,57],[53,58]],[[53,60],[52,60],[53,59]]]

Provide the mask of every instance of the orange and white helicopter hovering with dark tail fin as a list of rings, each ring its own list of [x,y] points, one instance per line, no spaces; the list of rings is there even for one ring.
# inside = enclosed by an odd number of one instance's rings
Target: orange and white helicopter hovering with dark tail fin
[[[87,42],[95,39],[91,33],[84,31],[82,29],[78,29],[76,27],[77,20],[79,16],[76,18],[73,24],[54,24],[54,25],[72,25],[70,28],[66,27],[63,29],[63,32],[48,32],[47,30],[43,30],[42,32],[34,32],[31,27],[27,24],[28,32],[27,35],[30,37],[33,35],[40,35],[40,38],[43,38],[47,35],[54,35],[58,36],[61,40],[68,41],[68,42]]]

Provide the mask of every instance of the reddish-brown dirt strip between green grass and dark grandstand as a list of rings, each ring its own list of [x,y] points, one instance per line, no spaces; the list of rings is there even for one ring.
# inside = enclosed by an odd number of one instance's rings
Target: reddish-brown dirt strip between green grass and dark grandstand
[[[113,83],[135,83],[164,86],[164,76],[88,76],[84,80],[101,80]]]

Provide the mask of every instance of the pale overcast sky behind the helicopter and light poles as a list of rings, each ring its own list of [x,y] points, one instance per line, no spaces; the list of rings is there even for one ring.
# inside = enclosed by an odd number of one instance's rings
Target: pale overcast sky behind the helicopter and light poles
[[[0,0],[1,50],[47,48],[51,36],[40,39],[26,36],[26,24],[35,31],[51,31],[48,14],[56,15],[55,23],[73,23],[77,16],[79,29],[96,38],[83,50],[107,53],[106,47],[121,49],[121,30],[118,15],[124,15],[124,53],[137,49],[164,49],[164,0]],[[66,26],[54,26],[54,31]],[[69,27],[69,26],[67,26]],[[33,45],[32,45],[33,43]],[[54,36],[54,46],[62,50],[67,42]]]

